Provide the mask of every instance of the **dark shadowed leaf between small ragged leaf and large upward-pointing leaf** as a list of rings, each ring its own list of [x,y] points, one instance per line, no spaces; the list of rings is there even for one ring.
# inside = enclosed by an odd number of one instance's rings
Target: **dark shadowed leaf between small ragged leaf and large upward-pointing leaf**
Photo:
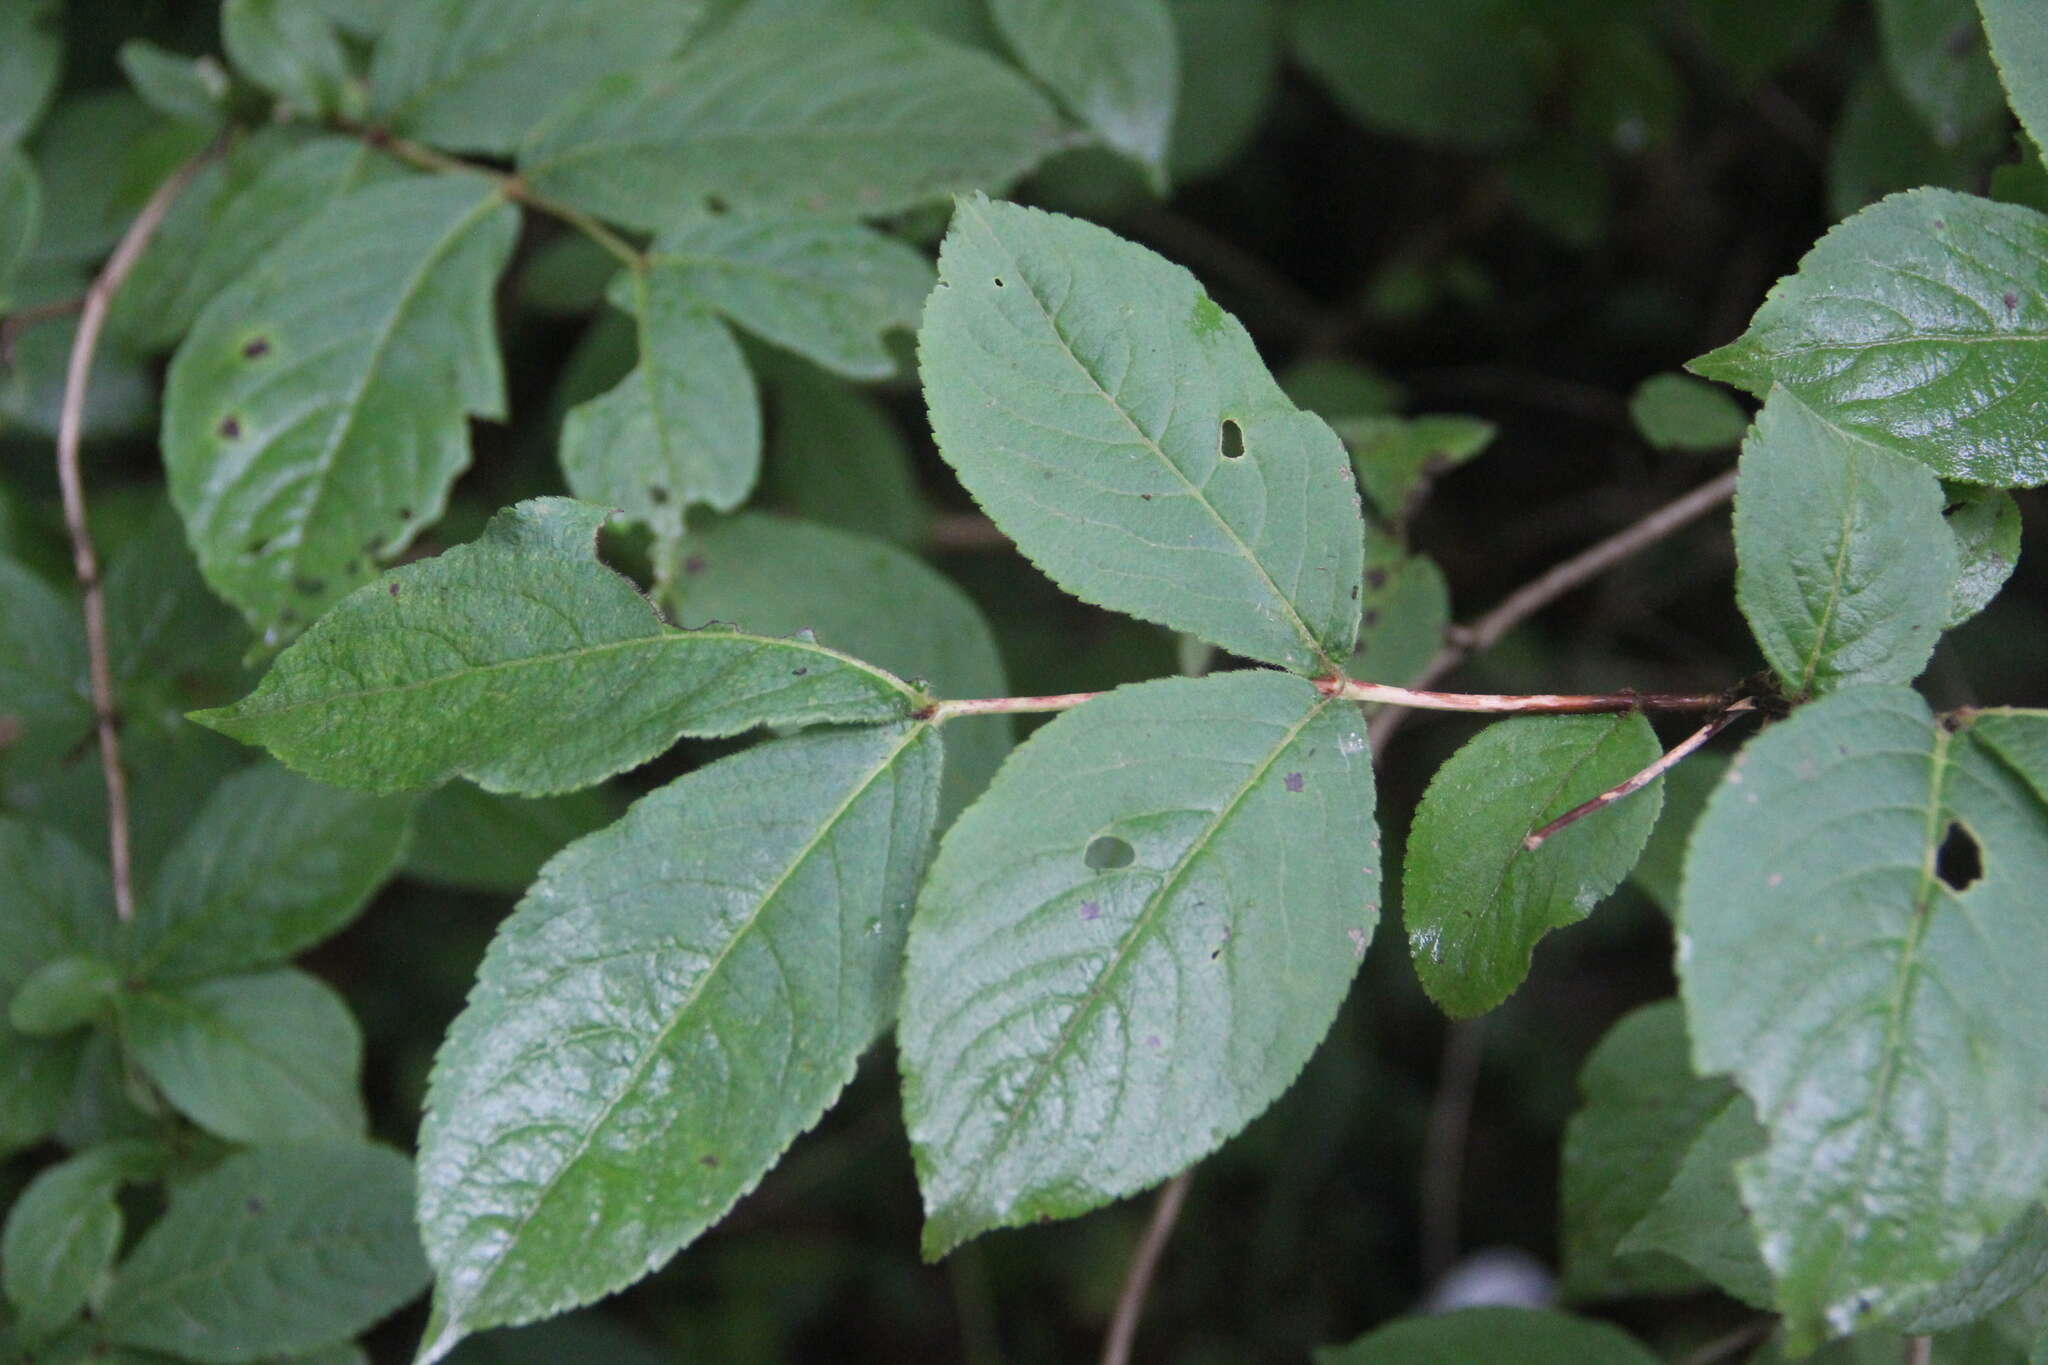
[[[762,499],[813,522],[922,546],[932,510],[903,432],[872,397],[809,364],[762,368],[768,469]]]

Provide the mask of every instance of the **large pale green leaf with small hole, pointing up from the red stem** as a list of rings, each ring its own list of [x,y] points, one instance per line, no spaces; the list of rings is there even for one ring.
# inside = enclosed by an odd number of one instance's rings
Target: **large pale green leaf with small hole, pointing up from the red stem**
[[[1327,673],[1358,634],[1343,448],[1192,274],[1094,223],[963,199],[920,332],[940,454],[1055,583]]]

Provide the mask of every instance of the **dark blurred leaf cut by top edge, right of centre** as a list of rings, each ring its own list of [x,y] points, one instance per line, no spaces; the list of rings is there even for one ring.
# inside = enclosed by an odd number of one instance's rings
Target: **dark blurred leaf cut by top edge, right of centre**
[[[1513,0],[1300,0],[1288,45],[1366,127],[1468,147],[1526,135],[1546,84]]]

